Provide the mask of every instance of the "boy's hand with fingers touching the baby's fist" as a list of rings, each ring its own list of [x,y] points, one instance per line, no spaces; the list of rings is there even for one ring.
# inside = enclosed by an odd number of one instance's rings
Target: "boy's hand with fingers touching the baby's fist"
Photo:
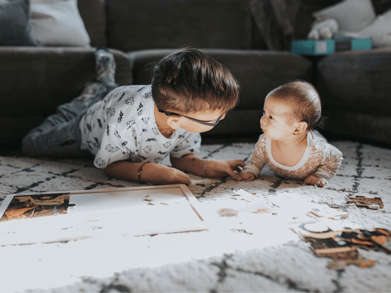
[[[223,176],[231,176],[237,181],[241,181],[242,177],[234,170],[237,170],[237,166],[244,166],[242,160],[208,160],[206,163],[206,177],[215,178]]]

